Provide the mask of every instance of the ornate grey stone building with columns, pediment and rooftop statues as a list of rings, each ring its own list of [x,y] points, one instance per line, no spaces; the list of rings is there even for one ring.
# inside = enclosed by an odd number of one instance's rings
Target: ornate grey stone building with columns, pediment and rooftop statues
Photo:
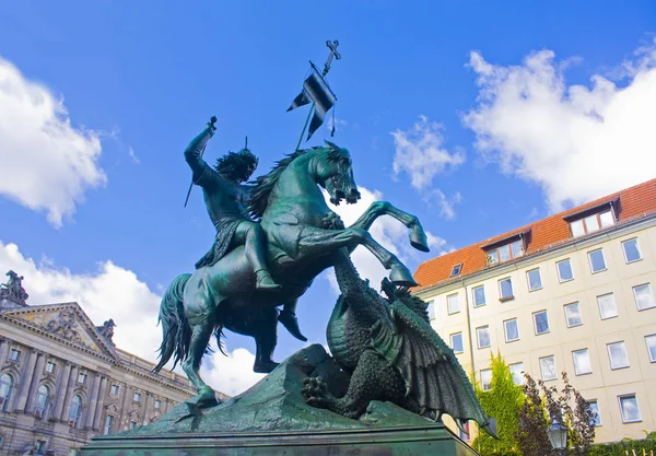
[[[0,456],[74,455],[98,433],[147,424],[192,396],[176,373],[112,341],[77,303],[27,305],[22,277],[0,287]]]

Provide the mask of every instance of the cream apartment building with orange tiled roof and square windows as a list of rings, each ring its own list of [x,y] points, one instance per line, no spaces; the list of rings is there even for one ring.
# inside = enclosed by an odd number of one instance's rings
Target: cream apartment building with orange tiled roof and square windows
[[[415,295],[490,388],[497,352],[597,412],[596,442],[656,431],[656,180],[422,264]]]

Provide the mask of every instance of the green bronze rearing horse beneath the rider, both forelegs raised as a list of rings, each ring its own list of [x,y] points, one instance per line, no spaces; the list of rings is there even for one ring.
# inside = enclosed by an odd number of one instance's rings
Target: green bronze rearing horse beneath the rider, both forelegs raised
[[[297,300],[313,280],[332,266],[333,255],[341,247],[353,250],[366,247],[390,270],[389,279],[399,285],[415,285],[412,274],[390,252],[368,233],[379,215],[391,215],[410,232],[410,243],[427,252],[425,233],[419,220],[388,202],[374,202],[350,227],[344,229],[321,192],[339,204],[355,203],[360,192],[353,179],[349,151],[326,141],[326,147],[298,150],[258,177],[251,191],[249,209],[261,218],[267,236],[268,262],[278,293],[255,290],[255,274],[238,246],[215,265],[194,273],[178,276],[168,287],[160,307],[163,341],[160,347],[159,372],[171,358],[174,367],[183,370],[198,395],[189,404],[208,407],[216,404],[214,390],[200,377],[200,361],[212,334],[221,348],[224,328],[256,341],[256,372],[271,372],[278,363],[271,355],[277,343],[277,307]]]

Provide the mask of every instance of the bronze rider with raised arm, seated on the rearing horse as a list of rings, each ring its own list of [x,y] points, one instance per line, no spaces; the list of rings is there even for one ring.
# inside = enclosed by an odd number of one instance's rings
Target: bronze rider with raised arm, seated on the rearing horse
[[[234,247],[244,245],[246,258],[256,276],[256,289],[279,291],[281,287],[273,281],[267,268],[265,233],[246,209],[249,186],[242,185],[250,178],[258,160],[248,149],[242,149],[223,155],[216,161],[215,168],[208,165],[201,154],[216,131],[215,122],[216,117],[212,117],[185,150],[185,160],[194,172],[194,184],[202,187],[208,213],[216,229],[214,245],[196,264],[196,269],[213,266]],[[286,303],[279,320],[294,337],[307,340],[298,328],[295,304]]]

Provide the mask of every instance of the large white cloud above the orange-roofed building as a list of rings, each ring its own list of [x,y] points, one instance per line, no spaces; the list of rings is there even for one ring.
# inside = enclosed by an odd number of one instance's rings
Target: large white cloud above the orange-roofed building
[[[551,211],[648,180],[656,168],[656,40],[624,61],[622,84],[595,74],[569,85],[550,50],[519,66],[471,52],[479,100],[464,115],[477,149],[504,173],[538,184]]]

